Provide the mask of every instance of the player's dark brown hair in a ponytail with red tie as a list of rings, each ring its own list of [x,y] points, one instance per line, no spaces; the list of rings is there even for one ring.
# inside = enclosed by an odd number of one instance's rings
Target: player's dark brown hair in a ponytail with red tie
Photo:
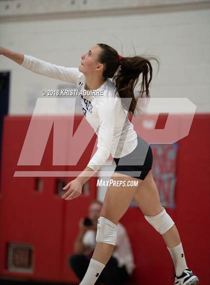
[[[104,78],[112,78],[116,92],[118,92],[120,98],[132,98],[131,103],[130,100],[126,101],[126,99],[123,99],[122,104],[124,109],[133,115],[136,107],[133,91],[138,82],[139,75],[142,74],[141,88],[138,91],[139,97],[142,98],[143,93],[145,93],[144,97],[149,98],[149,84],[152,79],[150,60],[157,62],[158,69],[159,61],[153,56],[122,57],[119,61],[116,50],[106,44],[97,45],[102,49],[98,61],[105,66],[102,76]]]

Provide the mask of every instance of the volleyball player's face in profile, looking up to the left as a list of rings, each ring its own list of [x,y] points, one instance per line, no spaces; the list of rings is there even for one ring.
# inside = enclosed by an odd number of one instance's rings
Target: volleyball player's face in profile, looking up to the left
[[[81,63],[78,70],[84,75],[90,75],[95,72],[102,73],[103,65],[97,61],[101,48],[97,45],[92,46],[85,54],[81,56]]]

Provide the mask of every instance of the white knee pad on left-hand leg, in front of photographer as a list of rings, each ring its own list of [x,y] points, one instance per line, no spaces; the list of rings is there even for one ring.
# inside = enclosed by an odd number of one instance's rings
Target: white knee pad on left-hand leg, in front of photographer
[[[104,242],[115,245],[117,225],[112,221],[99,217],[97,220],[96,242]]]

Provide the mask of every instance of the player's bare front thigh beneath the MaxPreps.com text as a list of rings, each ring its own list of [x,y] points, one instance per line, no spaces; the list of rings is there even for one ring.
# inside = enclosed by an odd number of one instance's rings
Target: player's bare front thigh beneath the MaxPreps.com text
[[[142,182],[142,180],[135,179],[130,176],[125,176],[119,173],[113,173],[110,179],[113,181],[122,180],[125,181],[126,186],[108,186],[106,190],[106,194],[104,197],[103,205],[100,211],[100,216],[103,216],[113,223],[119,221],[119,219],[123,216],[126,210],[129,207],[131,200],[137,190],[137,187]],[[136,181],[133,186],[127,186],[128,180],[129,183],[134,183],[131,181]]]

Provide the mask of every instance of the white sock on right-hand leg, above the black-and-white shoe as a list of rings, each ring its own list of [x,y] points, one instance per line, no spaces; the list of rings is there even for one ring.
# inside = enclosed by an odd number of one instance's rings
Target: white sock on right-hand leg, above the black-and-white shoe
[[[170,252],[173,264],[175,266],[175,274],[176,276],[180,276],[183,270],[187,268],[182,244],[180,243],[175,247],[167,247],[167,249]]]

